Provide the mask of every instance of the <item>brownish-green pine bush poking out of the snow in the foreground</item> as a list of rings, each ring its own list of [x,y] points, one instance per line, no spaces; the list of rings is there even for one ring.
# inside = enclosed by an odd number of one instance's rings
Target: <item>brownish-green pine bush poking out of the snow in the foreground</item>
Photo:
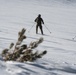
[[[16,44],[11,43],[8,49],[4,49],[2,51],[2,57],[5,61],[13,60],[19,62],[33,62],[38,58],[42,58],[42,56],[47,53],[46,50],[42,51],[41,53],[39,53],[38,50],[33,52],[33,49],[38,47],[38,45],[43,42],[42,37],[39,38],[37,41],[31,42],[29,46],[27,46],[27,44],[22,44],[23,40],[26,39],[26,36],[24,35],[25,31],[26,29],[23,28],[18,33],[18,40]]]

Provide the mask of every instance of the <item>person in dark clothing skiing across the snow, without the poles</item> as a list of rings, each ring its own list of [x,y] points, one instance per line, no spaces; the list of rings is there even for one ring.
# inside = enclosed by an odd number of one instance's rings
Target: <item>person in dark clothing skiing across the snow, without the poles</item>
[[[41,34],[43,35],[42,24],[44,24],[44,21],[41,18],[41,14],[38,15],[38,17],[35,19],[35,22],[37,23],[37,25],[36,25],[36,34],[38,34],[38,27],[39,27],[40,30],[41,30]]]

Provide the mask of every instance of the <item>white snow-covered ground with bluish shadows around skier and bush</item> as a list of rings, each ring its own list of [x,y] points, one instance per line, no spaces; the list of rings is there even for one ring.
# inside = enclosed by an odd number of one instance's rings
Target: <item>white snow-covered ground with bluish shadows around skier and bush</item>
[[[51,34],[45,26],[43,36],[35,34],[35,26],[28,32],[39,13]],[[76,0],[0,0],[0,53],[17,41],[22,28],[24,43],[43,37],[37,50],[48,53],[33,63],[5,62],[0,56],[0,75],[76,75]]]

